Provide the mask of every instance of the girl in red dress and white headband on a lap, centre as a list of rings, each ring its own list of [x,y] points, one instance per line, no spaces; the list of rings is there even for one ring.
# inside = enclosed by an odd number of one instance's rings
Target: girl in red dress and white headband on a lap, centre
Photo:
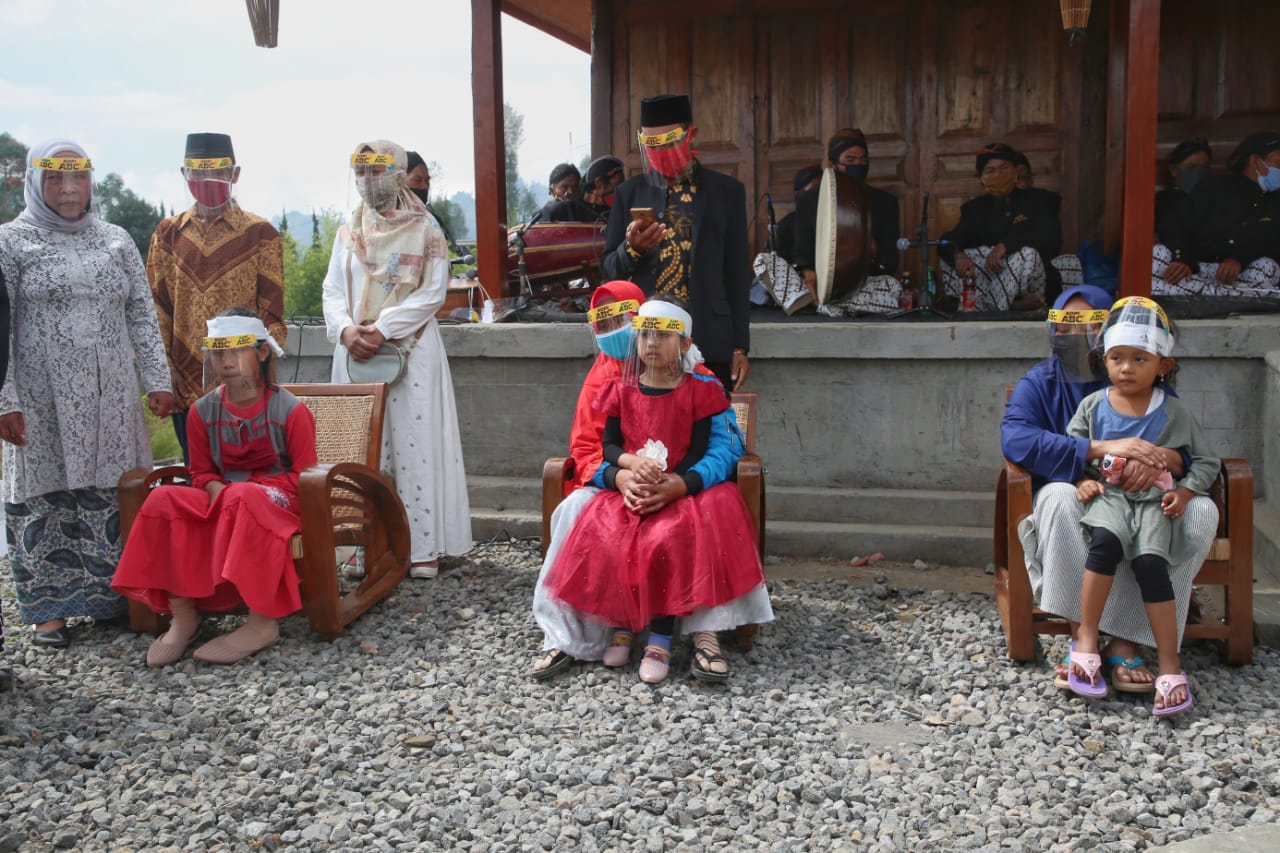
[[[566,540],[549,593],[623,634],[648,625],[640,679],[667,676],[676,617],[717,607],[764,583],[755,530],[728,471],[698,469],[712,429],[727,428],[724,389],[695,373],[689,314],[662,300],[640,306],[636,348],[600,389],[607,489]],[[733,460],[736,461],[736,460]],[[704,480],[704,475],[708,480]],[[695,638],[694,675],[723,680],[713,631]]]

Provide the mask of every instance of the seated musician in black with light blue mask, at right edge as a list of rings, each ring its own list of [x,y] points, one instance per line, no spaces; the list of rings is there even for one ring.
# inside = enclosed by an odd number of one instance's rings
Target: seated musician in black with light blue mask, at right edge
[[[1192,190],[1181,257],[1189,274],[1170,273],[1179,266],[1171,254],[1155,256],[1153,293],[1280,296],[1280,133],[1251,133],[1226,169]]]

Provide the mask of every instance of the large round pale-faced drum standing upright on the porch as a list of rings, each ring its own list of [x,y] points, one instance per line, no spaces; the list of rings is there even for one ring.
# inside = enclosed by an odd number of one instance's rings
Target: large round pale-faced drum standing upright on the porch
[[[852,296],[867,283],[872,259],[872,205],[867,184],[840,169],[823,169],[818,190],[814,273],[818,305]]]

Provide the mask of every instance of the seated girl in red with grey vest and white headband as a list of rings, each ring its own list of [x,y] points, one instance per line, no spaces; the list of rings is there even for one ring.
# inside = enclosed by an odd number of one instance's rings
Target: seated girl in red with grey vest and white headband
[[[276,620],[302,606],[289,539],[301,529],[298,474],[316,464],[315,418],[275,384],[282,350],[252,311],[209,320],[205,351],[205,375],[218,386],[187,418],[191,485],[152,489],[111,580],[120,594],[173,613],[147,666],[182,657],[200,611],[248,607],[244,625],[195,652],[234,663],[273,646]]]

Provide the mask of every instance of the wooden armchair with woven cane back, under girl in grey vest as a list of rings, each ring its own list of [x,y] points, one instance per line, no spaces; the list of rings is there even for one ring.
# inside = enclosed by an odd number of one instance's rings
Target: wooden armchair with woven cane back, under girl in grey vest
[[[298,478],[302,533],[289,546],[311,630],[332,640],[408,574],[408,516],[396,484],[379,470],[387,386],[283,387],[316,419],[320,461]],[[122,542],[154,487],[189,482],[189,470],[180,465],[127,471],[118,488]],[[360,546],[365,555],[365,578],[346,593],[338,578],[339,546]],[[137,601],[129,602],[129,619],[134,630],[152,634],[166,621]]]

